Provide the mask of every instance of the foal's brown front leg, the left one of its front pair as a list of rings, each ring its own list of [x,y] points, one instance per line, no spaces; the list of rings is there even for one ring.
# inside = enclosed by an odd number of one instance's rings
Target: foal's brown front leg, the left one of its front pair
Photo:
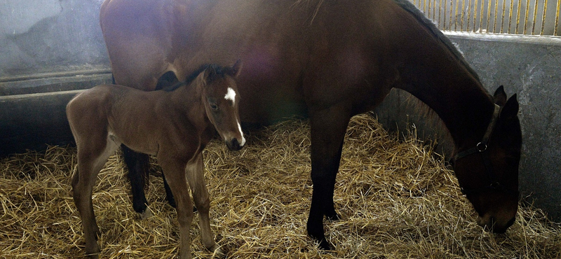
[[[189,230],[193,221],[193,202],[191,202],[189,186],[185,177],[186,165],[182,161],[158,154],[158,163],[162,167],[165,179],[168,180],[177,205],[175,209],[177,210],[177,221],[180,225],[180,259],[187,259],[191,258]],[[193,165],[188,163],[187,167],[193,167]]]

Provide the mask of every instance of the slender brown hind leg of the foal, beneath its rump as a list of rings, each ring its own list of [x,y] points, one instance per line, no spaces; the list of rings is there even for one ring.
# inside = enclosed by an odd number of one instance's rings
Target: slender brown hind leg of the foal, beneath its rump
[[[97,258],[100,248],[96,240],[97,235],[100,235],[100,228],[93,213],[92,190],[97,174],[107,162],[109,155],[114,153],[119,145],[109,139],[107,142],[91,140],[88,141],[89,143],[84,141],[85,143],[78,146],[78,170],[72,177],[72,196],[82,220],[86,255]]]

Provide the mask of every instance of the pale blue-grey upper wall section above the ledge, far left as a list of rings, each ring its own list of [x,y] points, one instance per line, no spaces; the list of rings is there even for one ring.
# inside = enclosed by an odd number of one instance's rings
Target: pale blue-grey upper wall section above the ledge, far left
[[[102,1],[0,1],[0,79],[107,71],[99,25]]]

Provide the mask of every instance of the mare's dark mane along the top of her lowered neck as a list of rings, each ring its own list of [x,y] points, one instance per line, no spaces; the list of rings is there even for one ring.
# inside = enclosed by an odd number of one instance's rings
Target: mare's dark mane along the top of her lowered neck
[[[450,52],[452,52],[454,57],[456,57],[456,59],[464,67],[466,67],[468,72],[471,73],[471,76],[473,76],[473,78],[475,78],[475,80],[477,80],[478,83],[480,85],[482,85],[481,80],[478,76],[478,73],[475,73],[475,70],[473,70],[471,68],[471,66],[468,64],[468,62],[466,62],[466,59],[464,58],[464,55],[461,54],[461,52],[458,50],[458,48],[456,48],[456,46],[454,46],[452,41],[450,41],[450,39],[447,36],[442,34],[442,31],[440,31],[440,29],[438,29],[436,27],[434,22],[432,22],[431,20],[428,20],[428,18],[426,18],[426,16],[424,15],[424,13],[421,12],[421,10],[419,10],[419,8],[417,8],[417,6],[414,6],[414,4],[411,3],[410,1],[408,1],[408,0],[393,0],[393,1],[395,1],[398,4],[398,6],[401,6],[401,8],[403,8],[403,9],[407,10],[407,12],[411,13],[414,18],[417,18],[417,20],[421,23],[421,25],[424,25],[424,27],[426,27],[429,31],[431,31],[433,36],[438,38],[438,40],[440,42],[442,42],[442,44],[445,45],[445,47],[448,50],[450,50]]]

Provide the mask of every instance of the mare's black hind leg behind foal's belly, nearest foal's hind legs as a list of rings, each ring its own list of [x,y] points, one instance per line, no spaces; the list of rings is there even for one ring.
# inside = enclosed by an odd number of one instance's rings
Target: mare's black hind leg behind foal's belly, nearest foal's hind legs
[[[125,145],[123,149],[123,160],[128,168],[128,179],[130,179],[130,191],[133,193],[133,209],[140,214],[140,218],[148,218],[151,211],[148,209],[148,201],[144,195],[144,188],[149,184],[149,156],[137,153]]]

